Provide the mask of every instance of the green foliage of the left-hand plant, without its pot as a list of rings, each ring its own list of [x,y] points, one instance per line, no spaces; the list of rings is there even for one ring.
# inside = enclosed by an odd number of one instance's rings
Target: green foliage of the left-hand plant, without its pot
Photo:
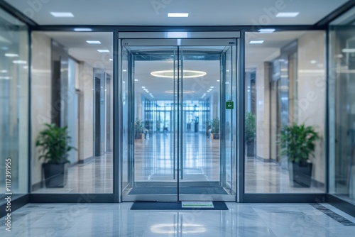
[[[35,140],[35,146],[41,148],[39,159],[44,158],[56,164],[70,162],[67,160],[69,152],[76,148],[69,145],[71,137],[67,133],[67,126],[60,128],[54,123],[45,123],[45,126]]]

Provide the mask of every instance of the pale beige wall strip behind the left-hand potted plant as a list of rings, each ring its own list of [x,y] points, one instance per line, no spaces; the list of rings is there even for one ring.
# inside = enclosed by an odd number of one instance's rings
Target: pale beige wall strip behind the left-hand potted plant
[[[32,34],[32,73],[31,73],[31,146],[32,184],[40,182],[43,160],[38,160],[35,138],[44,123],[51,121],[51,45],[50,38],[43,33]]]

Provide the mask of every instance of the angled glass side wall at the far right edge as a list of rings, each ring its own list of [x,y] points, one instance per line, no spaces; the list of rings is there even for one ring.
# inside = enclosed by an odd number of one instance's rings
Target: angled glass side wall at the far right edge
[[[329,26],[329,193],[355,204],[355,8]]]

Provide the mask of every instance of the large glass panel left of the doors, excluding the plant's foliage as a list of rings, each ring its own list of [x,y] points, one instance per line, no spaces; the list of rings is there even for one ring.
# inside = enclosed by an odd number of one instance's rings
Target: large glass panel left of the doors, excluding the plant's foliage
[[[32,33],[31,192],[113,193],[112,33]],[[65,165],[47,174],[35,140],[46,123],[67,127]]]

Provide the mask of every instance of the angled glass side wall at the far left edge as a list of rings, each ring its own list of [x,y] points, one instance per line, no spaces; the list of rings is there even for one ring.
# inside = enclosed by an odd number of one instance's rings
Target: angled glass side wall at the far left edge
[[[28,28],[0,9],[0,204],[28,193]]]

